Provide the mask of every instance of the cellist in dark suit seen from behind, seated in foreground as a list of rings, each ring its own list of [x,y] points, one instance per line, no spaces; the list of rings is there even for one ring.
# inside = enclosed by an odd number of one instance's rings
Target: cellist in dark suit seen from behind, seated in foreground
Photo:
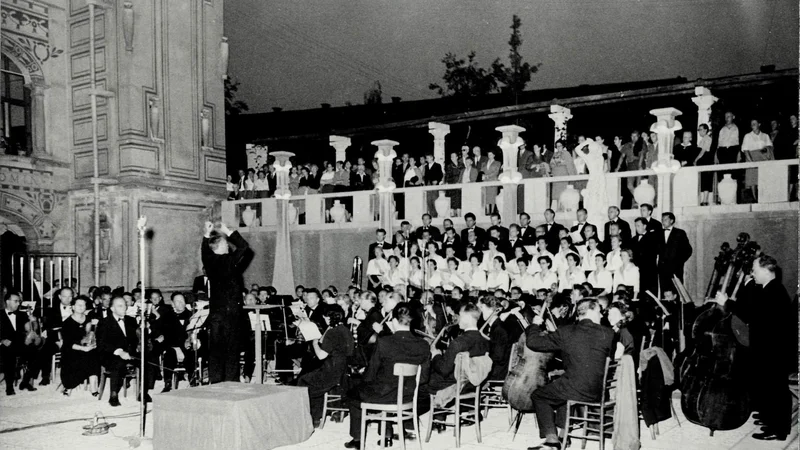
[[[600,325],[602,313],[597,300],[583,299],[576,310],[578,322],[561,326],[554,333],[542,335],[538,326],[528,327],[525,332],[528,348],[537,352],[561,352],[564,361],[564,375],[531,395],[539,436],[545,439],[535,448],[561,448],[558,428],[564,428],[567,400],[599,400],[606,357],[613,357],[614,331]],[[542,316],[536,316],[533,324],[540,326]]]

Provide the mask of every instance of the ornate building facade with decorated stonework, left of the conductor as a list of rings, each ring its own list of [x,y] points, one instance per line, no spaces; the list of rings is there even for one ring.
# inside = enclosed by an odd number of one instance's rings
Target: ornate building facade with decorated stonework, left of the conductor
[[[147,216],[148,285],[189,285],[203,220],[225,195],[222,0],[3,0],[0,10],[3,242],[77,253],[83,286],[131,286],[135,223]]]

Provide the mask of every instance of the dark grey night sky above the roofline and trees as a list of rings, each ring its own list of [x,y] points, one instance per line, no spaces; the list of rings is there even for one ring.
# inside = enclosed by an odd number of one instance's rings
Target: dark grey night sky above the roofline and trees
[[[797,67],[797,0],[227,0],[229,73],[250,112],[433,98],[448,51],[507,61],[511,17],[541,62],[528,89]]]

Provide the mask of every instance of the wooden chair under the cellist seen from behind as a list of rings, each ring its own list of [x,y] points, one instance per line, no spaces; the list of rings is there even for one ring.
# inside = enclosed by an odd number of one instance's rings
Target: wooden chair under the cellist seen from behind
[[[603,392],[598,402],[567,401],[567,422],[564,425],[564,436],[561,439],[561,449],[567,448],[570,437],[581,440],[581,448],[586,448],[586,441],[598,441],[600,450],[605,449],[606,436],[611,437],[614,432],[614,407],[616,406],[616,390],[614,389],[616,373],[619,362],[606,358],[605,373],[603,374]],[[609,395],[613,392],[613,397]],[[573,415],[573,410],[580,409],[582,414]],[[581,434],[572,434],[572,430],[581,429]],[[589,434],[597,434],[597,437]]]

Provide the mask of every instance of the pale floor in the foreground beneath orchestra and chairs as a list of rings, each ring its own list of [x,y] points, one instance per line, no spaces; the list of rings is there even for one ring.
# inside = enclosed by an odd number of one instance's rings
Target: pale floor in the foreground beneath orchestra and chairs
[[[160,389],[161,386],[157,385],[156,392]],[[106,393],[107,395],[108,393]],[[0,393],[0,449],[121,450],[135,447],[137,444],[139,444],[138,448],[151,449],[153,443],[150,439],[146,438],[138,442],[139,404],[134,401],[135,394],[129,392],[128,395],[127,399],[121,399],[121,407],[111,408],[106,401],[97,401],[82,389],[75,390],[70,397],[58,394],[53,386],[40,388],[33,393],[17,393],[13,397],[6,397]],[[677,398],[673,401],[680,415],[679,401]],[[96,413],[101,416],[105,415],[106,420],[116,423],[116,426],[103,436],[82,436],[82,427],[89,423]],[[148,416],[148,419],[150,418],[151,416]],[[423,416],[423,424],[426,418],[427,416]],[[737,430],[717,431],[713,437],[710,437],[708,430],[686,422],[682,415],[680,415],[680,419],[680,427],[675,419],[662,422],[660,424],[661,435],[656,440],[652,440],[649,431],[642,426],[642,449],[778,450],[799,448],[796,432],[786,442],[761,442],[752,439],[750,435],[757,428],[752,421]],[[147,424],[146,430],[146,436],[152,437],[153,430],[150,424]],[[328,421],[323,430],[316,430],[306,442],[283,447],[283,449],[341,449],[349,439],[347,420],[344,423]],[[377,430],[372,427],[368,432],[367,448],[378,448],[377,440]],[[508,431],[508,418],[505,411],[494,410],[482,422],[482,441],[481,444],[477,443],[475,430],[472,427],[462,430],[461,449],[464,450],[524,450],[529,446],[539,444],[541,440],[538,438],[538,430],[532,416],[524,417],[519,433],[516,438],[513,438],[512,433]],[[606,448],[611,450],[611,441],[606,441],[606,443]],[[395,443],[395,448],[399,448],[398,442]],[[407,448],[418,449],[418,443],[416,441],[407,442]],[[423,443],[423,448],[431,450],[455,448],[452,432],[434,433],[429,443]],[[579,448],[579,443],[573,443],[572,448]],[[589,442],[586,448],[596,449],[598,445],[595,442]]]

